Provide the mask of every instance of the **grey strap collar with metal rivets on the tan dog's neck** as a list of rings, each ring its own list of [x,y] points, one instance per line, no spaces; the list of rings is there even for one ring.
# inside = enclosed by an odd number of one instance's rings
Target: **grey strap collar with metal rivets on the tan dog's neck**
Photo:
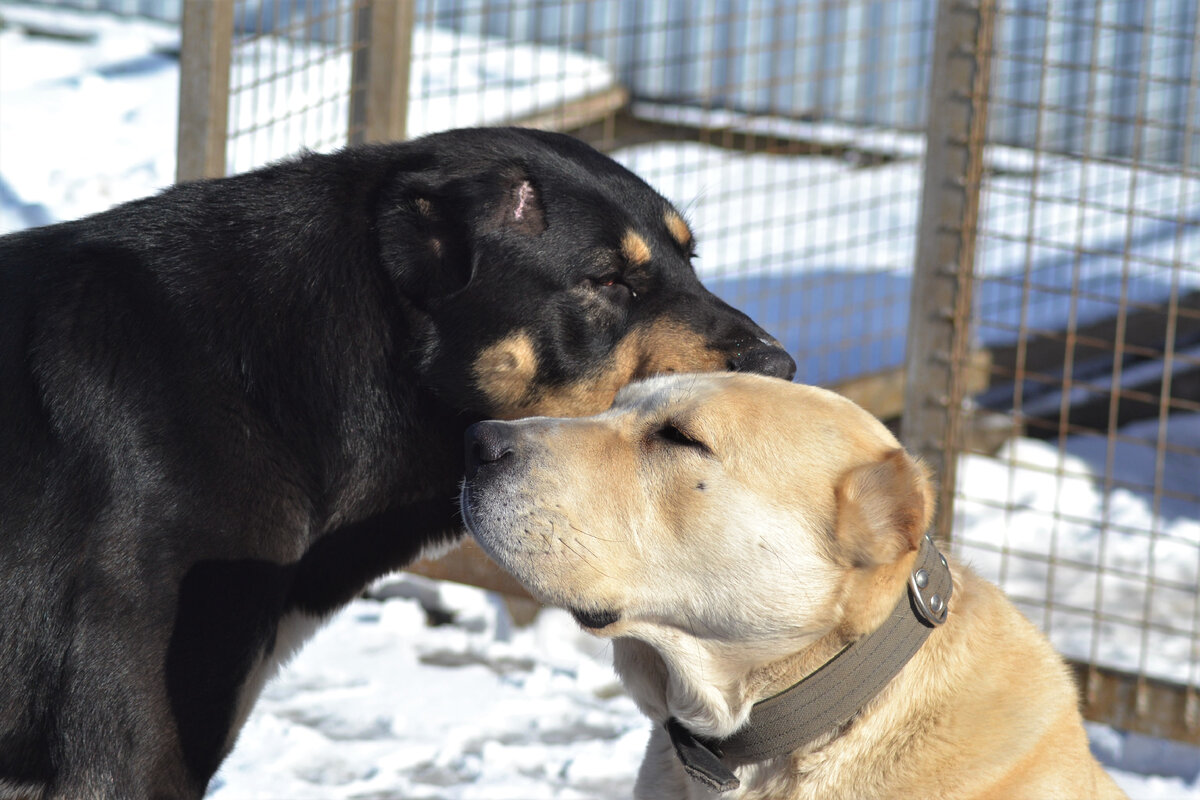
[[[702,739],[674,717],[666,728],[684,770],[716,792],[740,786],[733,768],[798,750],[850,722],[916,655],[949,614],[953,579],[926,534],[908,576],[908,591],[875,631],[842,648],[816,672],[755,703],[733,735]]]

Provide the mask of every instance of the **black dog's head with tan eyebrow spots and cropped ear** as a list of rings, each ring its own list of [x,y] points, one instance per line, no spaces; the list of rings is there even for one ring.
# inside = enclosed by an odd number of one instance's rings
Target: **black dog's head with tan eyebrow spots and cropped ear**
[[[683,217],[562,134],[451,131],[407,145],[380,251],[421,319],[425,383],[492,417],[581,415],[631,380],[796,363],[691,266]]]

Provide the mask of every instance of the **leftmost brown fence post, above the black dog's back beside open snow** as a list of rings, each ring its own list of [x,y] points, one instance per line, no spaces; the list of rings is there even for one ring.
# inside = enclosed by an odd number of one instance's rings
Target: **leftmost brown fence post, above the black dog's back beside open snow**
[[[229,127],[233,0],[185,0],[175,180],[221,178]]]

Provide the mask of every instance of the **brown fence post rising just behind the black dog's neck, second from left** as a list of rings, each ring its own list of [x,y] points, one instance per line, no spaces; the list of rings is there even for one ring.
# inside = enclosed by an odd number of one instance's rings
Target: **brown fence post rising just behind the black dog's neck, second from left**
[[[403,139],[415,0],[367,0],[354,11],[349,142]]]

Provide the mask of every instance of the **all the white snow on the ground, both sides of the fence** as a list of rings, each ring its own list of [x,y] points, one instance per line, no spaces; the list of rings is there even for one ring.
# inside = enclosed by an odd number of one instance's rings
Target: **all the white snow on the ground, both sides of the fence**
[[[10,2],[0,4],[0,14],[10,23],[0,29],[0,233],[74,218],[167,186],[174,174],[178,62],[170,52],[178,32],[101,14],[47,16]],[[65,36],[30,36],[12,24],[23,19]],[[416,130],[497,119],[450,116],[457,106],[506,116],[611,80],[607,68],[590,59],[542,48],[530,61],[529,50],[446,36],[437,30],[418,36],[416,47],[424,38],[431,58],[457,54],[462,60],[454,61],[452,85],[442,70],[416,71]],[[289,47],[295,46],[276,42],[265,52],[278,55],[278,48]],[[535,68],[514,74],[516,64]],[[341,80],[328,79],[335,78]],[[293,90],[318,84],[314,78]],[[523,85],[523,94],[499,102],[500,95],[488,94],[497,84]],[[451,103],[455,92],[458,101],[474,92],[472,102]],[[618,157],[688,210],[700,231],[702,275],[780,335],[799,356],[803,379],[816,383],[902,357],[920,175],[911,137],[836,127],[809,134],[848,137],[862,150],[892,152],[892,160],[860,168],[846,158],[745,156],[680,143]],[[257,162],[293,144],[284,136],[236,146],[247,148],[238,152]],[[1093,249],[1121,249],[1128,242],[1147,264],[1184,265],[1176,270],[1181,285],[1200,283],[1194,269],[1200,263],[1200,181],[1135,178],[1112,166],[1045,158],[1031,209],[1028,155],[996,150],[992,158],[1006,175],[992,182],[986,201],[984,224],[996,234],[980,259],[989,275],[1031,259],[1042,284],[1061,285],[1069,264],[1055,252],[1031,253],[1013,241],[1037,230],[1039,239],[1061,235],[1064,247],[1073,246],[1082,229],[1097,243]],[[1086,209],[1074,201],[1080,194],[1090,198]],[[1123,207],[1130,197],[1145,209],[1132,229],[1106,210]],[[1097,258],[1081,267],[1096,303],[1080,309],[1082,319],[1111,305],[1114,265]],[[1163,296],[1162,282],[1150,271],[1133,285],[1144,293],[1139,296]],[[996,308],[992,318],[1003,321],[1007,299],[985,296],[988,302]],[[1046,300],[1031,312],[1052,321],[1061,305]],[[997,324],[980,336],[1000,342],[1010,335]],[[863,341],[842,348],[840,359],[821,355],[830,344],[856,339]],[[1174,416],[1169,438],[1200,447],[1200,419]],[[1038,602],[1024,607],[1067,654],[1195,685],[1200,675],[1188,652],[1194,633],[1187,626],[1200,624],[1200,507],[1121,488],[1146,482],[1154,470],[1147,458],[1145,447],[1122,444],[1111,459],[1117,488],[1109,492],[1098,477],[1110,462],[1103,441],[1070,439],[1060,450],[1019,440],[995,458],[967,458],[962,493],[973,501],[959,509],[958,547],[1019,601],[1051,597],[1052,613]],[[1164,480],[1195,494],[1195,457],[1168,467]],[[1007,548],[1004,559],[997,543]],[[1070,564],[1048,570],[1050,554]],[[1098,579],[1097,565],[1121,575]],[[1147,599],[1150,576],[1163,585]],[[516,628],[494,596],[408,576],[376,587],[374,596],[335,616],[266,688],[212,786],[214,798],[628,794],[646,722],[616,684],[606,649],[565,614],[547,610],[534,626]],[[1093,608],[1117,621],[1091,624]],[[432,619],[452,621],[431,626],[427,609]],[[1121,621],[1142,613],[1159,627],[1186,630],[1144,638]],[[1133,796],[1200,799],[1196,750],[1103,726],[1091,732],[1094,750]]]

